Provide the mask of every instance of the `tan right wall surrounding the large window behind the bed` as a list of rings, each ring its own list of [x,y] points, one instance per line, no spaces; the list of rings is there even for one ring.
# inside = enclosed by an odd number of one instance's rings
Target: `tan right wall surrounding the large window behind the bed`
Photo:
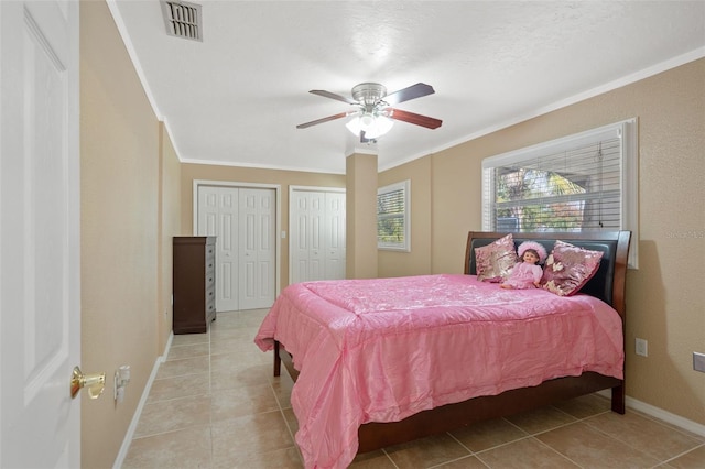
[[[705,373],[692,363],[693,351],[705,352],[705,59],[429,156],[432,271],[463,271],[467,231],[481,229],[484,157],[632,117],[639,119],[640,265],[627,276],[627,393],[705,424]],[[411,165],[384,179],[405,177]],[[413,184],[414,197],[417,190],[427,188]],[[409,257],[423,262],[426,253]],[[634,355],[636,337],[649,341],[648,358]]]

